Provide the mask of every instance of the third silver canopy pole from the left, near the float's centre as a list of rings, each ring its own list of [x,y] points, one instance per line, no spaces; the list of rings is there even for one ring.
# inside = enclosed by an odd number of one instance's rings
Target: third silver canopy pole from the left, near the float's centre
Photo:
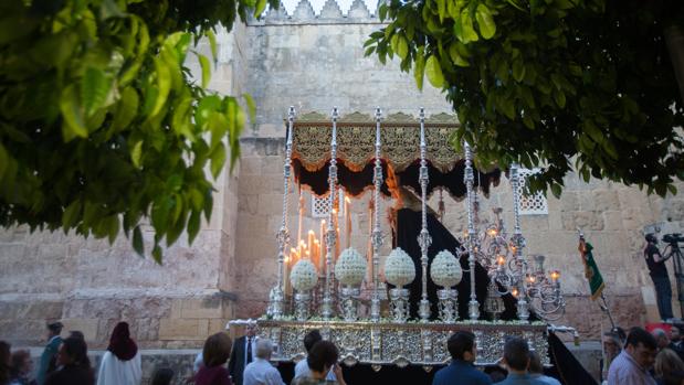
[[[376,107],[376,167],[373,168],[373,227],[372,227],[372,295],[370,298],[370,320],[380,321],[380,288],[378,280],[378,265],[380,263],[380,247],[382,247],[382,232],[380,231],[380,189],[382,188],[382,161],[380,142],[380,120],[382,111]]]

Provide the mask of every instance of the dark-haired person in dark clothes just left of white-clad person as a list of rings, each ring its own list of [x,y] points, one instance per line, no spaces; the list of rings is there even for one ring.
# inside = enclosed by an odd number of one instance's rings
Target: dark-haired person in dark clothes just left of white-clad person
[[[65,339],[57,353],[57,365],[62,368],[48,375],[45,385],[95,384],[87,353],[88,347],[82,339],[73,336]]]

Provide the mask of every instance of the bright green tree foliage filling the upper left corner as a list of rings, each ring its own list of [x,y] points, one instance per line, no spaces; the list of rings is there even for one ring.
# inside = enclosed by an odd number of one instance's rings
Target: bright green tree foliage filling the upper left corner
[[[273,1],[271,1],[273,2]],[[266,0],[4,0],[0,2],[0,225],[140,229],[160,243],[209,221],[213,178],[239,156],[239,99],[207,92],[213,28],[261,14]],[[277,3],[273,3],[277,7]],[[201,85],[183,67],[197,55]],[[245,96],[253,114],[253,101]],[[228,149],[225,146],[228,143]],[[133,233],[133,234],[131,234]]]

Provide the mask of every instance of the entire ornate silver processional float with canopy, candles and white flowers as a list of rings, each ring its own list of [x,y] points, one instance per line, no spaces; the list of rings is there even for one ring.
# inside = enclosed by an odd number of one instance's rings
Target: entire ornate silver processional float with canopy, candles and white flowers
[[[377,371],[382,365],[415,364],[429,370],[450,360],[445,343],[449,335],[459,330],[469,330],[476,336],[477,364],[497,362],[502,356],[505,339],[511,335],[522,336],[529,342],[532,349],[544,352],[541,354],[544,363],[548,364],[546,355],[548,322],[562,316],[565,301],[560,291],[559,272],[551,271],[547,277],[543,256],[535,257],[534,268],[528,266],[524,256],[526,245],[519,218],[519,199],[524,181],[519,178],[517,165],[514,164],[508,170],[514,216],[514,232],[508,238],[501,208],[494,210],[493,223],[482,224],[478,220],[475,183],[477,182],[478,188],[482,185],[475,179],[473,150],[469,143],[462,143],[467,231],[456,237],[460,244],[457,248],[440,250],[432,264],[429,264],[428,254],[432,244],[427,204],[430,184],[429,164],[438,163],[440,159],[452,161],[459,157],[450,143],[451,133],[457,127],[455,119],[430,122],[427,121],[421,108],[418,121],[406,119],[403,122],[383,122],[379,107],[375,111],[375,121],[343,124],[337,108],[333,109],[329,120],[323,120],[322,117],[318,115],[318,119],[298,122],[295,120],[293,107],[290,108],[287,116],[283,216],[276,236],[277,282],[270,292],[266,314],[256,321],[260,334],[274,342],[276,351],[274,360],[291,361],[303,357],[304,335],[313,329],[318,329],[325,339],[337,344],[343,362],[347,365],[371,364]],[[340,130],[347,147],[351,141],[355,149],[344,148],[344,153],[339,152]],[[298,143],[297,140],[306,143]],[[407,151],[407,147],[413,146],[411,143],[415,140],[418,140],[419,159],[412,159],[414,149],[408,148]],[[388,143],[385,149],[383,141]],[[315,157],[307,151],[319,152],[324,147],[329,149],[329,157],[323,158],[323,165],[319,164],[319,168],[328,164],[327,227],[320,239],[320,246],[325,244],[325,259],[323,259],[324,250],[320,248],[318,267],[309,258],[302,258],[292,267],[287,277],[285,267],[291,253],[287,217],[293,152],[297,152],[299,158],[306,160],[307,157]],[[387,179],[392,173],[392,162],[396,158],[403,158],[403,161],[408,162],[419,160],[420,164],[417,182],[420,189],[421,229],[417,240],[420,246],[418,266],[421,270],[419,277],[421,292],[415,319],[411,319],[409,290],[404,288],[415,279],[417,275],[411,257],[401,248],[394,248],[385,258],[383,276],[386,282],[393,288],[386,291],[379,275],[383,245],[381,195],[383,183],[389,182]],[[335,227],[339,206],[339,194],[336,192],[340,160],[361,165],[372,160],[372,163],[369,163],[372,164],[372,231],[367,258],[349,247],[339,253],[335,260],[336,248],[340,240]],[[477,175],[480,174],[477,171]],[[461,267],[462,258],[467,259],[467,269]],[[366,275],[367,266],[370,267],[370,278]],[[476,297],[476,266],[486,271],[486,281],[481,282],[487,285],[484,301],[478,301]],[[320,268],[324,271],[319,271]],[[469,275],[466,279],[470,280],[470,289],[459,292],[454,287],[461,282],[463,272]],[[319,277],[323,281],[319,281]],[[432,312],[432,303],[428,296],[429,277],[440,287],[436,291],[436,313]],[[294,296],[290,296],[285,290],[287,280],[292,284]],[[360,306],[364,299],[359,288],[364,281],[367,284],[366,287],[370,286],[370,293],[366,306]],[[467,314],[460,314],[457,311],[459,296],[470,298]],[[498,320],[504,310],[502,300],[504,296],[513,296],[515,299],[517,320]],[[491,320],[481,319],[481,308]]]

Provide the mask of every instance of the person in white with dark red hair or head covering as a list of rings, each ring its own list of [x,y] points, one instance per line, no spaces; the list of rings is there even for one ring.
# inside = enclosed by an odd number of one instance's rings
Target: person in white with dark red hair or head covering
[[[143,378],[140,353],[130,338],[128,323],[119,322],[102,356],[97,385],[139,385]]]

